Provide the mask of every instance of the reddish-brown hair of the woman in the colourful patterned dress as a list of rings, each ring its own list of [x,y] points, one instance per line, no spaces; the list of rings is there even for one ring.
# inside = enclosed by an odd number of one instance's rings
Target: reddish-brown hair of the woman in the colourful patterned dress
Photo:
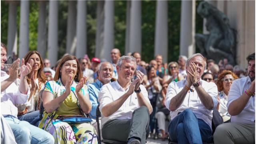
[[[74,78],[75,82],[80,82],[81,78],[83,77],[82,75],[82,70],[80,69],[80,64],[78,62],[78,59],[75,56],[72,56],[70,54],[63,56],[59,61],[59,64],[57,66],[56,69],[56,73],[54,75],[53,80],[58,80],[59,78],[61,78],[61,74],[60,74],[60,68],[62,68],[63,64],[68,61],[68,60],[76,60],[77,63],[77,71],[76,71],[76,75],[77,77]]]

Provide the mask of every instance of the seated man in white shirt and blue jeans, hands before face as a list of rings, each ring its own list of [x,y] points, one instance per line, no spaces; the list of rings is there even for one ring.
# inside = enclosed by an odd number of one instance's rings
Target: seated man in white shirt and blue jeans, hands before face
[[[202,144],[212,138],[212,110],[218,104],[218,90],[213,82],[200,79],[205,69],[202,54],[193,54],[186,63],[187,77],[168,86],[165,106],[171,115],[172,142]]]

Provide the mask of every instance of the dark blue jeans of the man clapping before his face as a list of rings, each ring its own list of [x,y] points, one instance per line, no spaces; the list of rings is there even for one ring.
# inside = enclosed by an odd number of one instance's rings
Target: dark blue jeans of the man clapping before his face
[[[202,144],[212,139],[212,129],[190,109],[176,116],[169,124],[169,135],[172,142],[179,144]]]

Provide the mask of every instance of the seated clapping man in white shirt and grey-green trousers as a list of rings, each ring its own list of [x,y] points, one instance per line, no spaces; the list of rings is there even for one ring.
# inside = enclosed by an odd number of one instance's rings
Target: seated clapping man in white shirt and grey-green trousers
[[[141,85],[144,74],[138,71],[138,78],[131,82],[136,70],[136,60],[132,56],[122,56],[116,70],[117,81],[105,84],[99,93],[102,137],[128,144],[145,144],[152,106],[146,88]]]

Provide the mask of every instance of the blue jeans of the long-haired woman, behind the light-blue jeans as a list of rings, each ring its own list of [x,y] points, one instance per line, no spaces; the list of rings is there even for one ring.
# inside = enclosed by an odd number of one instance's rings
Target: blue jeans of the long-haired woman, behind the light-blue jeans
[[[38,126],[40,123],[39,110],[18,116],[18,119],[25,120],[25,121],[29,122],[30,124],[32,124],[33,126]]]

